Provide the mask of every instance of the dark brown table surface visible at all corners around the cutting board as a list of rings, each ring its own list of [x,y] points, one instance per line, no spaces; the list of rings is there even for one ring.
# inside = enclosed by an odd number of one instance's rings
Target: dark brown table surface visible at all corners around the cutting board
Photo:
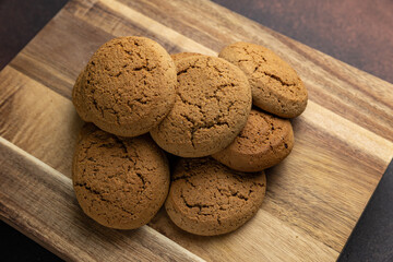
[[[393,83],[393,1],[391,0],[214,1]],[[67,0],[0,0],[0,69],[66,2]],[[370,261],[389,261],[390,259],[393,261],[391,251],[393,239],[389,236],[389,231],[393,231],[392,169],[391,164],[390,172],[386,171],[382,178],[349,240],[349,242],[357,241],[353,246],[359,248],[354,249],[348,243],[343,251],[342,260],[349,258],[350,261],[356,261],[356,258],[366,260],[369,258]],[[8,245],[2,247],[5,261],[53,261],[57,259],[3,223],[0,230],[2,240],[8,240]],[[370,234],[373,236],[370,237]],[[21,249],[21,247],[24,248]]]

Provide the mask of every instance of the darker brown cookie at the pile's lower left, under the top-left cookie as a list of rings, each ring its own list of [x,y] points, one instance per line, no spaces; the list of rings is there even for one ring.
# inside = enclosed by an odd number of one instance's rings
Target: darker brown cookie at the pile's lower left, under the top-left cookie
[[[147,224],[165,202],[169,179],[165,154],[148,135],[122,139],[83,127],[72,181],[78,202],[94,221],[117,229]]]

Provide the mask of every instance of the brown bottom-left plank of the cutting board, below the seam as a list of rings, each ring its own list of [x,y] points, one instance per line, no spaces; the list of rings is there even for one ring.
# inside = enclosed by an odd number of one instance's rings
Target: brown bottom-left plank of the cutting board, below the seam
[[[75,261],[202,261],[147,226],[103,227],[83,215],[71,179],[0,138],[0,215],[59,257]],[[99,254],[99,255],[98,255]]]

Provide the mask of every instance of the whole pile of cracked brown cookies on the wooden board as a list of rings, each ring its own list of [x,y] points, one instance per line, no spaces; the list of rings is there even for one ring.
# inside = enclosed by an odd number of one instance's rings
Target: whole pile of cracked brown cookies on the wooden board
[[[290,153],[288,118],[307,105],[295,70],[262,46],[237,43],[218,58],[170,56],[145,37],[104,44],[72,96],[90,122],[73,158],[82,210],[102,225],[133,229],[165,203],[177,226],[202,236],[255,215],[263,170]]]

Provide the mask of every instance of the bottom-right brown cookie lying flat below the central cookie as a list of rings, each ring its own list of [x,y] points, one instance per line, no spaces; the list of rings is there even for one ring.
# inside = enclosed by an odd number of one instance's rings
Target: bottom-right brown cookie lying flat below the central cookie
[[[239,228],[260,209],[263,171],[242,174],[210,157],[182,158],[176,166],[165,209],[181,229],[202,236]]]

